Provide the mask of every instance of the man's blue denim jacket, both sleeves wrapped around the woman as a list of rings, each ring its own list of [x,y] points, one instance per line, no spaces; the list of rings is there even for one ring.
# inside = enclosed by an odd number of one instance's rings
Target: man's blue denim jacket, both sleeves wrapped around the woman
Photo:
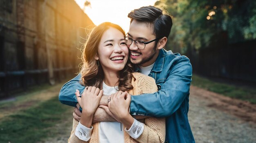
[[[139,68],[136,72],[140,72]],[[192,76],[189,58],[162,49],[148,76],[155,79],[159,91],[150,95],[132,96],[131,115],[166,117],[166,143],[194,143],[188,120]],[[79,83],[80,79],[79,74],[63,85],[59,93],[61,103],[76,106],[74,92],[76,89],[80,93],[84,90]]]

